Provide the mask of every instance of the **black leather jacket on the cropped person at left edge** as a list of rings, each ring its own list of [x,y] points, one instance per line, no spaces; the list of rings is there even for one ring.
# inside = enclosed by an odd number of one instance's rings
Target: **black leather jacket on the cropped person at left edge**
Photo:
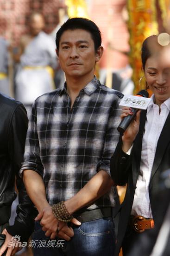
[[[16,198],[16,177],[19,191],[17,217],[14,225],[6,229],[13,236],[21,236],[23,241],[31,235],[36,216],[24,183],[19,178],[27,127],[28,119],[23,104],[0,94],[0,225],[8,222],[10,218],[11,205]]]

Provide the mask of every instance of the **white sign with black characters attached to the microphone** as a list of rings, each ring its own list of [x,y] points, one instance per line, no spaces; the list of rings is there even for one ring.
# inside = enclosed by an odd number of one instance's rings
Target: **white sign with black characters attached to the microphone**
[[[145,98],[134,95],[125,95],[120,101],[120,107],[130,107],[138,109],[146,109],[151,101],[151,98]]]

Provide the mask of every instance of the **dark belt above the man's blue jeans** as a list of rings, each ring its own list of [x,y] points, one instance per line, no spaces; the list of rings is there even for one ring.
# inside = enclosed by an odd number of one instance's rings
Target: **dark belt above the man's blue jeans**
[[[108,218],[112,216],[111,207],[103,207],[100,209],[86,210],[82,213],[75,213],[73,216],[80,222],[89,222],[101,218]]]

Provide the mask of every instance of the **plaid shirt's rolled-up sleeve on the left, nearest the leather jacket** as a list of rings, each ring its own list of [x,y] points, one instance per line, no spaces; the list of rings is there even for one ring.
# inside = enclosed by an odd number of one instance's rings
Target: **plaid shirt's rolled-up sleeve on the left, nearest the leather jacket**
[[[32,107],[26,135],[24,162],[20,168],[19,175],[22,176],[26,169],[36,171],[39,175],[43,176],[44,167],[40,159],[40,148],[37,133],[36,103],[34,103]]]

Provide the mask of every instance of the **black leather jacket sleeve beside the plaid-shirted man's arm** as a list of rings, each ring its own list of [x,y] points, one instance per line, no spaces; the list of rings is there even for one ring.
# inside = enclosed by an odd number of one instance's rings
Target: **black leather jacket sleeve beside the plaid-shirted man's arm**
[[[19,168],[23,161],[25,137],[28,127],[26,110],[22,104],[15,109],[9,130],[9,152],[12,168],[16,175],[16,184],[19,191],[19,205],[13,226],[6,229],[12,236],[21,236],[21,241],[27,241],[34,229],[34,218],[37,214],[33,203],[26,193],[22,179],[19,177]],[[25,232],[26,231],[26,232]]]

